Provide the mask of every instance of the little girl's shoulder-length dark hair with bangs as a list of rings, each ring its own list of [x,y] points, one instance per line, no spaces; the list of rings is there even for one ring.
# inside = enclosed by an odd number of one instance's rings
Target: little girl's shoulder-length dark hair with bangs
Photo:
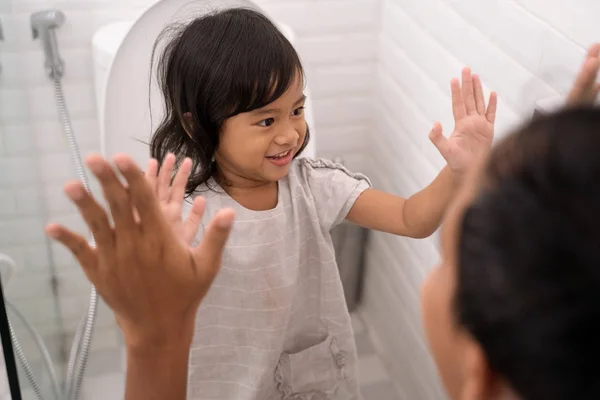
[[[213,156],[223,122],[277,100],[296,76],[304,79],[291,43],[261,13],[230,8],[184,26],[166,29],[154,45],[169,38],[158,60],[158,84],[165,114],[150,142],[159,163],[172,152],[178,165],[193,161],[186,194],[215,173]],[[309,140],[306,138],[299,155]]]

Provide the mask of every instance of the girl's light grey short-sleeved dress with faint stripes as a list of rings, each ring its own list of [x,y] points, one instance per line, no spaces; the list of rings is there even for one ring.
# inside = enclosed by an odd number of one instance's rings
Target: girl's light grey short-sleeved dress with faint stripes
[[[203,223],[224,207],[236,210],[236,220],[198,312],[188,399],[360,399],[329,232],[369,187],[366,177],[341,165],[296,159],[268,211],[199,188],[207,204]]]

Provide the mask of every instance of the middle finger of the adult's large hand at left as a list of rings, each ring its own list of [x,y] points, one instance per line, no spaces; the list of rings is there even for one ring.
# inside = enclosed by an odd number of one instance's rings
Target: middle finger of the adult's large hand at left
[[[116,230],[125,232],[135,229],[128,190],[119,181],[112,167],[99,155],[89,156],[86,164],[102,186]]]

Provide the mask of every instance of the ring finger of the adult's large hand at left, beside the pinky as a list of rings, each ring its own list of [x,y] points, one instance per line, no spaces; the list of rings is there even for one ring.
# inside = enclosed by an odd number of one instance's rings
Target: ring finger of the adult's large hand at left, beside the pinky
[[[113,229],[102,206],[78,181],[67,183],[65,193],[79,209],[79,213],[92,231],[96,242],[103,246],[113,246]]]

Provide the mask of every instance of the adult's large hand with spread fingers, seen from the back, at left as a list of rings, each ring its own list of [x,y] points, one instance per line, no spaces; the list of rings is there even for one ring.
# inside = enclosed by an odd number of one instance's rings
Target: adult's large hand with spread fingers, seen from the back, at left
[[[154,188],[133,160],[118,155],[114,163],[127,185],[121,183],[101,156],[86,160],[100,181],[114,226],[79,182],[65,187],[91,229],[96,248],[61,225],[49,225],[47,233],[79,261],[115,312],[130,347],[143,349],[189,342],[197,308],[220,267],[234,213],[217,213],[200,244],[192,247],[161,211]],[[202,200],[198,200],[197,207],[201,215]]]

